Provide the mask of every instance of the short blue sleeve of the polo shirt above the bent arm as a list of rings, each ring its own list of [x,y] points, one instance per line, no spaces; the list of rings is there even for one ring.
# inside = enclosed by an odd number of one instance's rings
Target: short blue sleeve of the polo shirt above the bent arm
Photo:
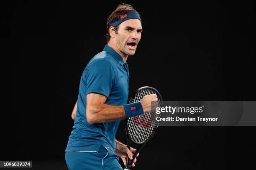
[[[114,73],[113,66],[105,60],[93,63],[85,75],[87,77],[86,95],[94,92],[108,97],[114,82]]]

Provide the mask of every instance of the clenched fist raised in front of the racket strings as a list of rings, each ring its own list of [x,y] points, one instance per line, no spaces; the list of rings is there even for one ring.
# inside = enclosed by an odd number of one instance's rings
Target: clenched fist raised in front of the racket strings
[[[152,106],[151,101],[153,101]],[[156,94],[144,96],[143,99],[141,100],[141,105],[144,113],[150,112],[151,110],[156,110],[156,107],[158,105]]]

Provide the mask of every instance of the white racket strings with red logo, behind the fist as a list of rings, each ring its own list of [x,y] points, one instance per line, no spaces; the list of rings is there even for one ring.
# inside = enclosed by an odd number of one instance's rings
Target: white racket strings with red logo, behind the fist
[[[133,97],[130,103],[139,102],[145,95],[156,94],[158,99],[158,107],[160,105],[159,95],[151,89],[144,89],[138,92],[138,94]],[[145,112],[142,115],[130,117],[127,121],[128,133],[131,140],[136,143],[143,143],[146,141],[152,134],[152,132],[158,126],[158,121],[156,120],[156,112]]]

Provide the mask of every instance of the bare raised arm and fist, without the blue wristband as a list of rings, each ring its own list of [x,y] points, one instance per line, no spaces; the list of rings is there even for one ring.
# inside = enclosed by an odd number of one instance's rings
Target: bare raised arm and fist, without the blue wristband
[[[107,97],[90,93],[86,96],[86,117],[89,123],[104,123],[122,120],[126,117],[123,105],[105,104]],[[143,112],[151,110],[151,101],[157,101],[156,95],[147,95],[141,100]]]

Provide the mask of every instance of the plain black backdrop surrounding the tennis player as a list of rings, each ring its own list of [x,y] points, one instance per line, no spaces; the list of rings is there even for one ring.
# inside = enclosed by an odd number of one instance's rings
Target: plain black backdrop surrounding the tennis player
[[[125,2],[125,1],[123,1]],[[0,160],[67,169],[71,112],[87,62],[104,48],[120,1],[2,4],[11,42],[13,98]],[[128,57],[130,95],[141,86],[164,100],[255,100],[255,2],[126,1],[143,33]],[[117,139],[125,142],[123,122]],[[134,169],[225,170],[249,166],[254,127],[160,127]]]

